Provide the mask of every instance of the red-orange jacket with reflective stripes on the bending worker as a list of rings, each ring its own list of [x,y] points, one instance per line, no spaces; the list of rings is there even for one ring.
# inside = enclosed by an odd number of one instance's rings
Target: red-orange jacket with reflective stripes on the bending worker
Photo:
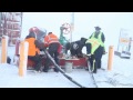
[[[49,44],[53,42],[59,42],[59,39],[55,34],[51,33],[44,37],[44,44],[45,47],[49,47]]]

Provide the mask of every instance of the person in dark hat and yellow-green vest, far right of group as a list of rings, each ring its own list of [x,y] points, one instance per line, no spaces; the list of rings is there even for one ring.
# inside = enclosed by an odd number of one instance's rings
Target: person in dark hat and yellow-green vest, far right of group
[[[94,73],[96,73],[96,69],[101,68],[102,54],[105,54],[105,37],[100,30],[100,27],[95,27],[95,31],[86,40],[86,56],[89,57],[91,69]]]

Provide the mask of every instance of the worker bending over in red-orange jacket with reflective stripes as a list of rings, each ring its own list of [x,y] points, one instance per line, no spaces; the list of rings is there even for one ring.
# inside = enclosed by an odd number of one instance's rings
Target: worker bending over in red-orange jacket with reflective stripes
[[[59,64],[59,48],[60,48],[60,42],[59,38],[53,34],[52,32],[49,32],[48,36],[44,37],[44,47],[48,47],[48,52],[50,56],[55,60],[57,64]],[[43,69],[44,72],[48,72],[49,66],[51,61],[47,59],[47,64]],[[57,68],[54,68],[55,72],[59,72]]]

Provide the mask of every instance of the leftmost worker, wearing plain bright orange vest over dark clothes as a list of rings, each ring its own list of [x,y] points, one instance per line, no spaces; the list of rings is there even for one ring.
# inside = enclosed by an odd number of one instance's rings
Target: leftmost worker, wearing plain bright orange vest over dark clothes
[[[34,31],[30,30],[29,36],[25,37],[25,41],[29,42],[28,59],[35,63],[34,70],[40,72],[42,67],[42,58],[40,57],[40,49],[44,49],[44,43],[35,39]]]

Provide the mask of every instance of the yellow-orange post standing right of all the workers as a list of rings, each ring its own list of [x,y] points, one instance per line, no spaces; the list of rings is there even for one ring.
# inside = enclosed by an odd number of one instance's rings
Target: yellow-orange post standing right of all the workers
[[[108,70],[112,70],[112,63],[113,63],[113,56],[114,56],[114,47],[109,47],[109,61],[108,61]]]

